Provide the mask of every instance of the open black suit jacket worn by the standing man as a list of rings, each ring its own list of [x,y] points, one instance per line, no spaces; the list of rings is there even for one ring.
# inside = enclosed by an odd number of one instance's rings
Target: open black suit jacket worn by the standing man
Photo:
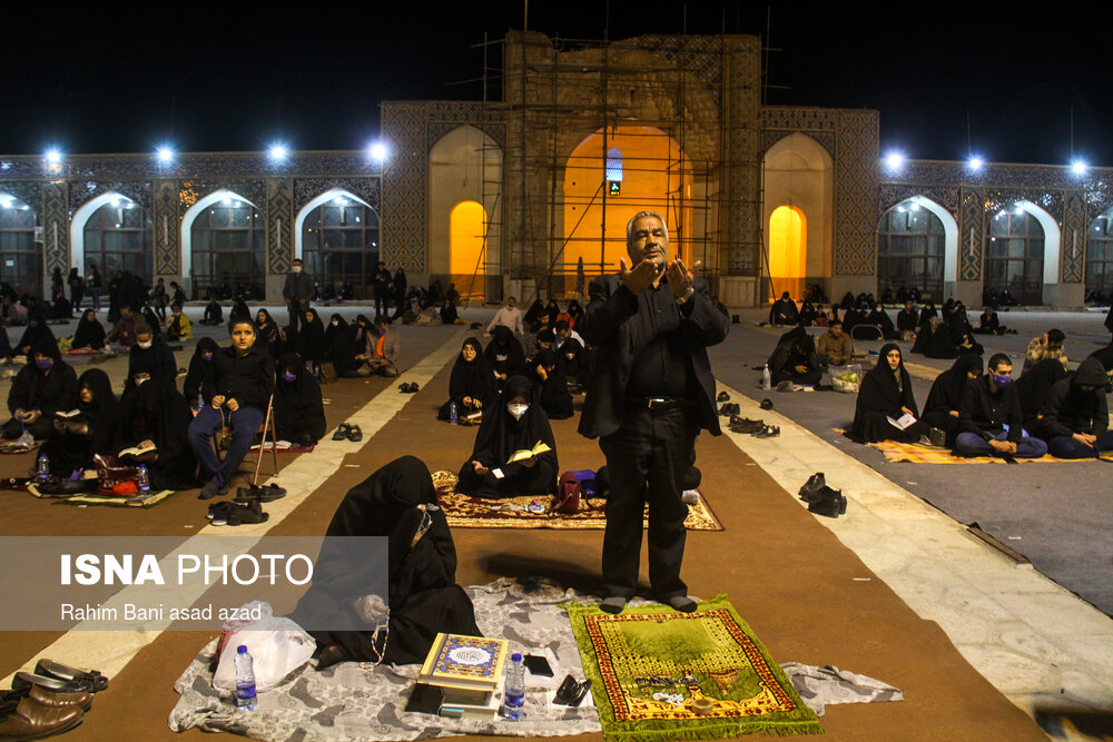
[[[715,407],[715,378],[707,357],[708,346],[727,337],[730,324],[716,310],[707,281],[696,278],[690,307],[674,305],[688,345],[689,362],[698,392],[695,402],[700,427],[719,435],[719,415]],[[652,339],[653,325],[643,311],[641,296],[622,285],[621,276],[600,276],[588,288],[590,303],[575,325],[584,340],[595,347],[594,368],[588,383],[580,434],[589,438],[610,435],[622,425],[626,388],[634,358]]]

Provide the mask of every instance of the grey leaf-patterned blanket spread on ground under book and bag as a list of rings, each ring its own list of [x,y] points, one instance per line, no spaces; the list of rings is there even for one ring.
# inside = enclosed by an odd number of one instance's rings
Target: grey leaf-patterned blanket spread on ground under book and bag
[[[510,641],[514,651],[545,654],[554,677],[533,679],[526,687],[525,721],[445,719],[403,711],[418,665],[380,665],[364,669],[347,662],[316,672],[305,665],[282,684],[259,695],[255,711],[239,711],[235,700],[213,687],[213,640],[194,657],[174,684],[181,694],[167,724],[175,732],[198,728],[232,732],[256,740],[425,740],[454,734],[505,736],[563,736],[599,732],[599,715],[591,694],[577,709],[550,703],[565,674],[583,679],[580,653],[568,615],[559,607],[568,601],[590,601],[574,590],[540,580],[502,578],[466,588],[475,605],[475,620],[485,636]],[[640,604],[643,601],[634,601]],[[784,665],[804,702],[818,715],[830,703],[900,701],[892,685],[830,665],[798,662]]]

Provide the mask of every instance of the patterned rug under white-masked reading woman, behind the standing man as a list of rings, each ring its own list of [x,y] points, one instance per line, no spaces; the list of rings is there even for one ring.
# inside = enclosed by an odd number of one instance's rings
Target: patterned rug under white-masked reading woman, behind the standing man
[[[456,475],[452,472],[434,472],[433,486],[441,501],[441,508],[452,528],[580,528],[603,530],[607,516],[603,512],[607,501],[602,497],[587,499],[580,497],[580,509],[575,513],[550,513],[552,497],[470,497],[455,492]],[[646,524],[648,524],[648,508]],[[707,499],[688,506],[684,526],[689,531],[722,531],[722,525],[711,512]]]

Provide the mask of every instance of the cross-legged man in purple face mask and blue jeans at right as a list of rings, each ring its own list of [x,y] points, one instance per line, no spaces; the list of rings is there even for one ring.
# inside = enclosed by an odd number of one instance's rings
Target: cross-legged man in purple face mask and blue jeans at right
[[[1047,444],[1024,435],[1013,364],[1003,353],[989,358],[988,374],[963,388],[958,406],[956,456],[1040,458]]]

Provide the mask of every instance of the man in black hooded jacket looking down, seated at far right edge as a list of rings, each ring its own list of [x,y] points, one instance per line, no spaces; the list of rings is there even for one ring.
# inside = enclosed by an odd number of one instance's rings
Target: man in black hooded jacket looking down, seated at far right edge
[[[1035,426],[1035,433],[1047,442],[1052,456],[1096,458],[1103,451],[1113,451],[1105,400],[1107,380],[1101,362],[1091,356],[1078,365],[1074,376],[1051,387],[1044,416]]]

